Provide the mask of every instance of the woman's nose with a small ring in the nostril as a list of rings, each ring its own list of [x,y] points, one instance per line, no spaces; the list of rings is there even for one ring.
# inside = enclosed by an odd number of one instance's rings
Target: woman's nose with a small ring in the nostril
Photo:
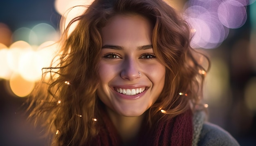
[[[128,58],[124,60],[121,70],[121,78],[125,80],[135,80],[141,76],[139,65],[136,60]]]

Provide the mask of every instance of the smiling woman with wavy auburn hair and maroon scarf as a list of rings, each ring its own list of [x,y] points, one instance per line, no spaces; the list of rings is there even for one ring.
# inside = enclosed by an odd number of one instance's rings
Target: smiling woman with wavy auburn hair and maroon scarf
[[[45,122],[52,145],[238,145],[204,122],[208,58],[190,47],[190,30],[162,0],[95,0],[63,33],[30,117]]]

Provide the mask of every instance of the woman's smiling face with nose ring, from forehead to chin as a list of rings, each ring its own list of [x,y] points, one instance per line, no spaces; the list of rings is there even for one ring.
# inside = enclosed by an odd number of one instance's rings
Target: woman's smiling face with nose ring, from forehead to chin
[[[102,29],[97,94],[118,115],[142,115],[163,90],[165,67],[155,57],[152,30],[141,15],[116,15]]]

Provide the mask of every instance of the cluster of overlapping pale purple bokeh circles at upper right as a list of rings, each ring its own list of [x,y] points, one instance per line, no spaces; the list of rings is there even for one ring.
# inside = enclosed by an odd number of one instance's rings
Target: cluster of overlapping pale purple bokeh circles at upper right
[[[247,20],[246,6],[255,0],[189,0],[184,18],[193,31],[193,48],[213,49],[227,38],[229,29],[242,27]]]

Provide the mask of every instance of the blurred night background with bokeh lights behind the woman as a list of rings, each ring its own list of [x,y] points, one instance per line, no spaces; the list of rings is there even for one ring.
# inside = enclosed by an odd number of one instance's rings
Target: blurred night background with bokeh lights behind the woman
[[[49,66],[56,42],[69,22],[93,0],[2,0],[0,3],[0,145],[45,146],[43,131],[20,108],[41,68]],[[241,146],[256,145],[255,0],[169,0],[191,23],[192,46],[211,59],[204,102],[209,121]]]

